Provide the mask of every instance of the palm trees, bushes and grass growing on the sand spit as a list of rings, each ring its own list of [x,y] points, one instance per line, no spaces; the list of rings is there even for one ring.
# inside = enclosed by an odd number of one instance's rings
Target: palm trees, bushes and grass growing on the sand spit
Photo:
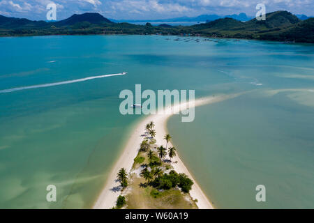
[[[151,122],[145,126],[147,134],[154,130],[154,123]],[[169,142],[171,137],[166,134],[164,139]],[[142,168],[140,178],[136,174],[131,174],[130,185],[125,169],[120,169],[117,177],[121,186],[131,187],[130,193],[124,197],[119,197],[117,206],[121,208],[126,202],[127,208],[197,208],[195,201],[191,199],[190,192],[193,181],[185,174],[178,174],[172,170],[165,173],[164,170],[173,169],[168,161],[163,162],[163,157],[169,155],[170,158],[176,155],[174,147],[168,148],[163,146],[157,148],[157,151],[151,148],[147,139],[140,144],[140,150],[134,159],[133,170]],[[154,146],[156,148],[156,146]],[[167,153],[168,152],[168,153]],[[171,160],[170,160],[171,162]],[[124,185],[126,182],[126,185]],[[181,189],[181,190],[179,190]],[[121,205],[118,205],[121,204]]]

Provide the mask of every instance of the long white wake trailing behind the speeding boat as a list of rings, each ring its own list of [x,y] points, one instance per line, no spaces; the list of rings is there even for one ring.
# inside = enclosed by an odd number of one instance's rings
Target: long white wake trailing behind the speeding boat
[[[85,81],[88,81],[90,79],[112,77],[112,76],[120,76],[120,75],[126,75],[126,74],[127,74],[127,72],[122,72],[122,73],[113,74],[113,75],[100,75],[100,76],[93,76],[93,77],[84,77],[82,79],[73,79],[73,80],[65,81],[65,82],[54,82],[54,83],[50,83],[50,84],[38,84],[38,85],[32,85],[32,86],[21,86],[21,87],[14,88],[14,89],[0,90],[0,93],[8,93],[8,92],[13,92],[13,91],[22,91],[22,90],[26,90],[26,89],[46,88],[48,86],[57,86],[57,85],[62,85],[62,84],[72,84],[72,83],[76,83],[76,82],[85,82]]]

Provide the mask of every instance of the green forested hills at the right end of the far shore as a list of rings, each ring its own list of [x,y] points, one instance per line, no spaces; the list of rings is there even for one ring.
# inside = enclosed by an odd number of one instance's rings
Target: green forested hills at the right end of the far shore
[[[313,19],[302,22],[287,11],[268,13],[264,21],[240,22],[225,18],[197,24],[193,28],[202,36],[314,43]]]

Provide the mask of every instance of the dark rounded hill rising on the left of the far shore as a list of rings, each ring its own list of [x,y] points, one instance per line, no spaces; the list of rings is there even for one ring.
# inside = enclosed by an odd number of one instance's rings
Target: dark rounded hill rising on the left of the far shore
[[[89,22],[91,24],[113,23],[99,13],[84,13],[82,15],[74,14],[66,20],[55,22],[55,24],[59,26],[72,26],[77,24],[77,22]]]

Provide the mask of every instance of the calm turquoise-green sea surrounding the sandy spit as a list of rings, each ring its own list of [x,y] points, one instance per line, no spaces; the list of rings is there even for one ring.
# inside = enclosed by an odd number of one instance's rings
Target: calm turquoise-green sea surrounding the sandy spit
[[[314,208],[314,45],[43,36],[0,48],[0,208],[91,208],[143,117],[119,112],[135,84],[246,92],[197,107],[192,123],[170,118],[180,156],[217,208]]]

